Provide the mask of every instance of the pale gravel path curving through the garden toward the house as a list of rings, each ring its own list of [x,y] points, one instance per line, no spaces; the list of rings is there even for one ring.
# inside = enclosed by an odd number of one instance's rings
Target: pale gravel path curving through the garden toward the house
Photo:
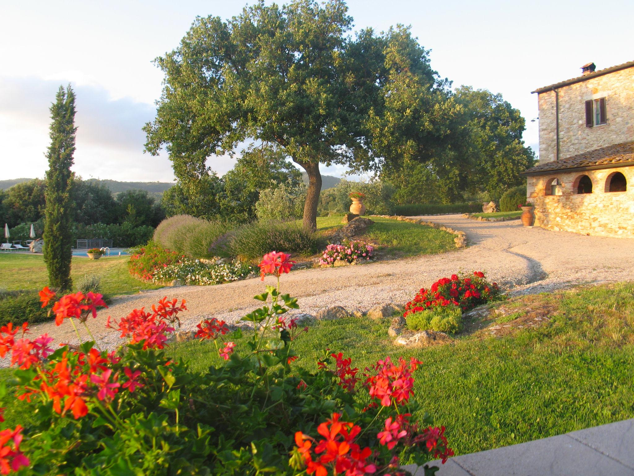
[[[492,281],[513,293],[539,293],[588,282],[634,280],[634,239],[591,237],[543,228],[522,227],[514,221],[475,221],[461,215],[421,217],[463,230],[467,248],[439,255],[379,261],[363,266],[297,270],[282,278],[282,291],[299,298],[299,312],[314,314],[324,307],[340,305],[366,311],[380,303],[404,303],[439,277],[459,270],[485,271]],[[267,277],[265,283],[275,279]],[[108,315],[119,319],[133,308],[152,307],[163,296],[186,300],[183,329],[193,329],[202,316],[237,322],[259,301],[259,279],[219,286],[181,286],[143,291],[113,300],[110,308],[89,319],[89,326],[102,347],[120,344],[118,334],[105,329]],[[82,329],[87,337],[85,329]],[[56,342],[76,342],[71,326],[47,322],[34,326],[32,335],[48,333]]]

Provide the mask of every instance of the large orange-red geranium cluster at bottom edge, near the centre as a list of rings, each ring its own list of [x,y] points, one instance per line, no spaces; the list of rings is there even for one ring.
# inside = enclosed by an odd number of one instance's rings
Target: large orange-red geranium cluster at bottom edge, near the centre
[[[354,442],[361,427],[339,421],[340,417],[341,414],[333,413],[332,418],[317,427],[317,432],[323,437],[319,441],[302,432],[295,433],[295,449],[304,460],[306,473],[327,476],[328,468],[332,468],[334,474],[349,476],[375,473],[377,466],[368,461],[372,450],[368,447],[361,449]],[[313,442],[316,443],[314,450]]]

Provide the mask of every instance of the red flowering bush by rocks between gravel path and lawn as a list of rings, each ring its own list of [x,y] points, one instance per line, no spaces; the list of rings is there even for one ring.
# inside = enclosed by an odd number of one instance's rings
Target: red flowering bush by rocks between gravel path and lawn
[[[497,283],[486,281],[484,273],[475,271],[472,276],[452,274],[451,278],[441,278],[430,289],[422,288],[405,305],[403,317],[420,312],[429,307],[455,305],[463,311],[491,301],[500,294]]]

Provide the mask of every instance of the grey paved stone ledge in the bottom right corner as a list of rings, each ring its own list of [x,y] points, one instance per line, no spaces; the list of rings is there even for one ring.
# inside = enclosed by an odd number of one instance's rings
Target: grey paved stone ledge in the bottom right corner
[[[634,476],[634,419],[429,464],[436,476]]]

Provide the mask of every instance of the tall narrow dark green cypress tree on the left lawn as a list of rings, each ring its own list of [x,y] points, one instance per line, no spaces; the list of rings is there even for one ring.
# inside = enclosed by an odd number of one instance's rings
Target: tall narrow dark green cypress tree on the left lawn
[[[51,128],[46,171],[46,208],[44,211],[44,261],[51,288],[69,291],[72,258],[72,172],[75,152],[75,93],[68,84],[60,86],[51,105]]]

